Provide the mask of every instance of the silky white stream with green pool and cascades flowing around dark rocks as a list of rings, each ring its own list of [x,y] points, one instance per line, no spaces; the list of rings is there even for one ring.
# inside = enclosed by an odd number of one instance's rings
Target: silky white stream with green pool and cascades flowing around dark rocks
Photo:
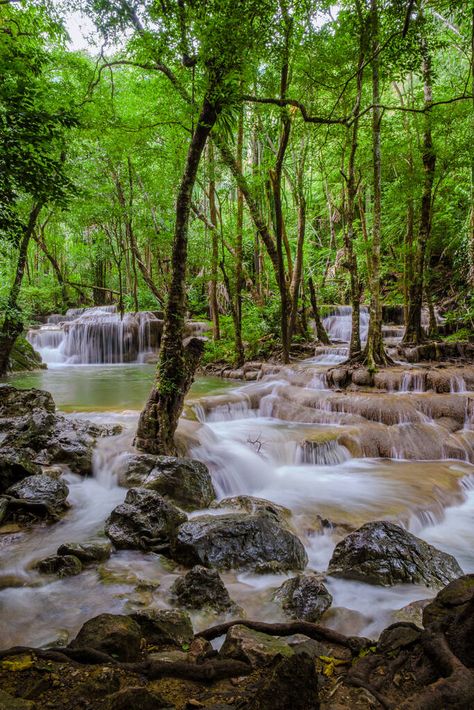
[[[466,572],[474,571],[470,393],[446,395],[456,411],[464,407],[467,412],[465,429],[453,445],[456,457],[415,460],[418,444],[420,452],[426,450],[426,433],[439,433],[439,425],[426,414],[427,402],[435,395],[385,392],[379,404],[380,421],[373,407],[368,420],[360,414],[360,396],[347,393],[341,407],[335,399],[340,395],[326,389],[322,359],[247,385],[197,379],[181,435],[189,454],[209,467],[218,497],[248,494],[290,508],[311,570],[326,569],[335,544],[348,530],[386,518],[455,555]],[[35,561],[54,553],[62,542],[103,539],[105,519],[125,497],[117,472],[132,451],[138,412],[153,374],[149,365],[63,366],[9,378],[19,387],[49,390],[68,415],[117,422],[123,431],[99,440],[93,477],[64,473],[71,507],[60,522],[0,535],[2,647],[65,643],[98,613],[169,605],[169,589],[183,570],[159,555],[116,552],[98,568],[60,580],[32,570]],[[398,420],[387,425],[384,416],[393,402]],[[367,409],[365,400],[364,406]],[[303,421],[294,416],[307,411],[311,416],[302,417]],[[360,441],[372,436],[372,427],[373,436],[380,439],[383,434],[397,442],[396,457],[364,454]],[[407,451],[400,443],[404,437],[410,439]],[[249,618],[283,618],[272,593],[287,576],[240,572],[222,576]],[[376,636],[391,623],[396,610],[435,594],[416,585],[387,589],[330,577],[327,586],[334,601],[323,623],[368,636]],[[197,628],[214,620],[193,615]]]

